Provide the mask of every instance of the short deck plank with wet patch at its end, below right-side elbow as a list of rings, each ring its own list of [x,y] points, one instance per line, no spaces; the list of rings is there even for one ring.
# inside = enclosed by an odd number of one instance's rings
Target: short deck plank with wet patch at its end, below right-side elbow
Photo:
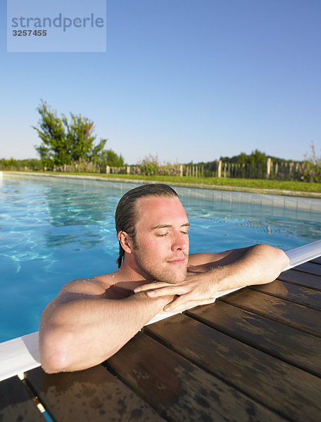
[[[251,286],[251,289],[268,293],[277,298],[291,300],[291,302],[296,302],[300,305],[321,309],[321,291],[312,288],[275,280],[272,283]]]

